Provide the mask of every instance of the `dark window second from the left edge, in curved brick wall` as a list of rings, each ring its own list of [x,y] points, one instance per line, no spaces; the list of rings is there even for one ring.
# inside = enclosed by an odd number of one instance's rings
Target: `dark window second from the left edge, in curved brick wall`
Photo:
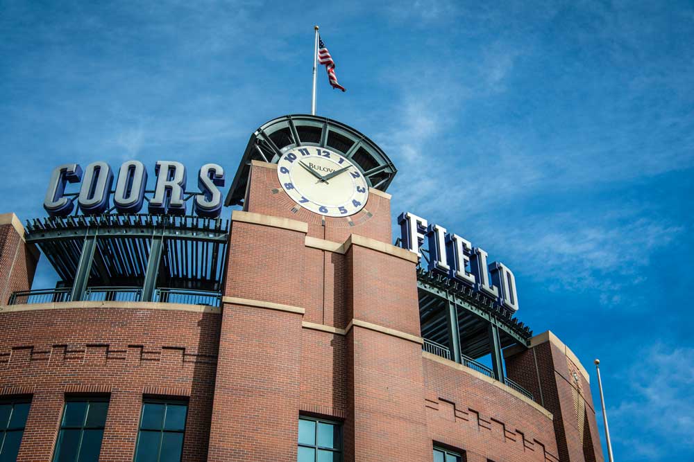
[[[99,461],[107,411],[108,398],[68,399],[53,462]]]

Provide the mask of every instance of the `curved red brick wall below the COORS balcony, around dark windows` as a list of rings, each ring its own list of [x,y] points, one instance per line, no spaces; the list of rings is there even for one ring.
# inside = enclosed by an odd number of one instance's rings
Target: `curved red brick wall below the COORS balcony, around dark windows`
[[[219,326],[114,304],[0,313],[0,394],[32,395],[18,461],[51,460],[65,393],[110,393],[104,461],[133,460],[144,394],[187,397],[184,460],[207,460]]]

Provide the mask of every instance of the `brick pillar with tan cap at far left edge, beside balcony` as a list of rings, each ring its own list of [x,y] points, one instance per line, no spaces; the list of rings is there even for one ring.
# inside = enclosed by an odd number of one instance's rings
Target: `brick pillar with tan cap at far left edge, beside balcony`
[[[0,305],[12,292],[31,289],[39,251],[24,241],[24,226],[14,213],[0,215]]]

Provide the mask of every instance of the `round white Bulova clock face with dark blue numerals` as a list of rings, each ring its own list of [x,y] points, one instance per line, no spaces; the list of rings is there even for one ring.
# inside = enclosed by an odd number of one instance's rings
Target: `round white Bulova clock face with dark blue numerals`
[[[317,146],[285,152],[277,176],[297,204],[327,217],[354,215],[369,198],[369,185],[359,168],[337,152]]]

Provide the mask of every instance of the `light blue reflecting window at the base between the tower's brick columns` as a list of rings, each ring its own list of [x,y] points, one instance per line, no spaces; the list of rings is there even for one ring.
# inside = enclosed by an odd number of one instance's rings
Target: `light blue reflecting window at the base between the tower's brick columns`
[[[339,423],[299,418],[298,462],[341,462],[342,427]]]

